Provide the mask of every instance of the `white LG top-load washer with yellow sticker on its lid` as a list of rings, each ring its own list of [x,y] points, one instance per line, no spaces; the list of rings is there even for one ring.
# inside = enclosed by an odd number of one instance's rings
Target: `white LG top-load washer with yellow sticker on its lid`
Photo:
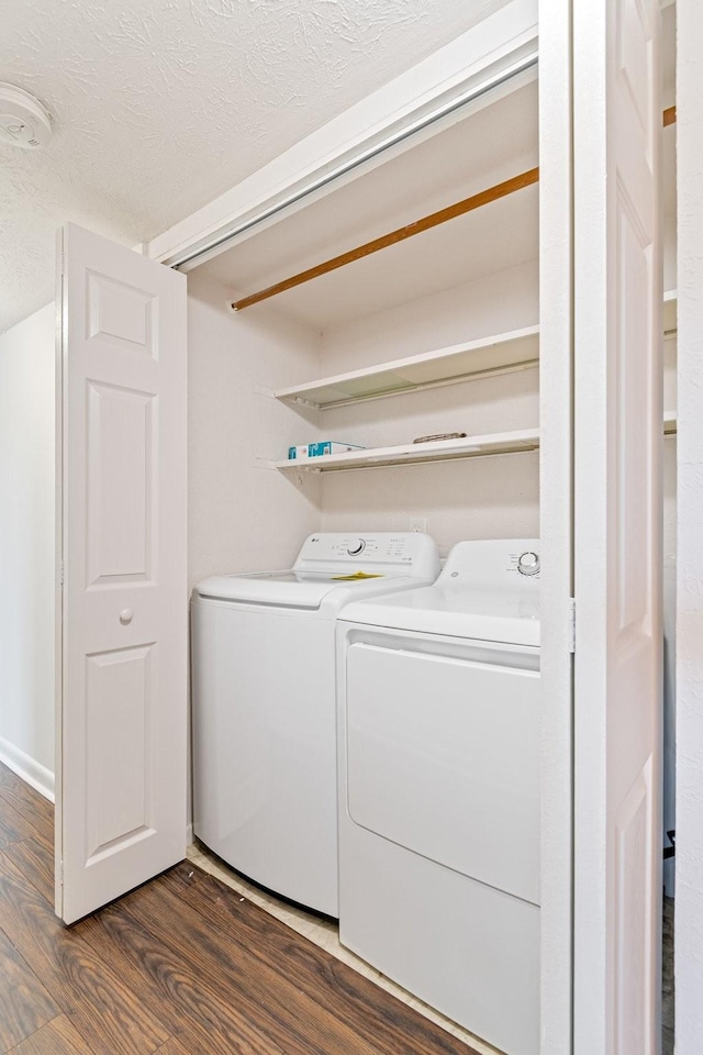
[[[322,533],[290,570],[215,576],[193,591],[194,832],[319,912],[338,914],[336,617],[438,571],[428,535]]]

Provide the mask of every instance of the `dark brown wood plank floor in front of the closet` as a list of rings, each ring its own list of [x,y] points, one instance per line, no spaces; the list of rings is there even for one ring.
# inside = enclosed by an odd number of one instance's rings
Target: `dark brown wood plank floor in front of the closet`
[[[53,807],[0,764],[0,1055],[471,1055],[186,862],[71,928]]]

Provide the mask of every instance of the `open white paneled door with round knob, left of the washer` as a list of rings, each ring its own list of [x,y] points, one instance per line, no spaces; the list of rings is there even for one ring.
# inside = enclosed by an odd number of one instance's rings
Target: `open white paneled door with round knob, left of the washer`
[[[57,356],[56,913],[186,852],[186,279],[68,224]]]

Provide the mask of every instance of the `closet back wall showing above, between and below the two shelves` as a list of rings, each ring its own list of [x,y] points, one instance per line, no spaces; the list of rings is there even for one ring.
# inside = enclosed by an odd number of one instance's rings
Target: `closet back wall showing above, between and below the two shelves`
[[[350,370],[538,321],[537,266],[526,264],[325,333],[323,374]],[[365,446],[440,432],[483,434],[534,426],[538,371],[325,411],[322,432]],[[426,466],[330,473],[322,479],[325,531],[408,531],[426,519],[440,553],[462,538],[539,533],[537,453]]]

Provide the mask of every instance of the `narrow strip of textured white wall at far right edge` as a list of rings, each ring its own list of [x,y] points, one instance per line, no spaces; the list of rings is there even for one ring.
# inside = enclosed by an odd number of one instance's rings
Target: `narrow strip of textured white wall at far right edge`
[[[703,5],[679,0],[676,1050],[703,1037]]]

